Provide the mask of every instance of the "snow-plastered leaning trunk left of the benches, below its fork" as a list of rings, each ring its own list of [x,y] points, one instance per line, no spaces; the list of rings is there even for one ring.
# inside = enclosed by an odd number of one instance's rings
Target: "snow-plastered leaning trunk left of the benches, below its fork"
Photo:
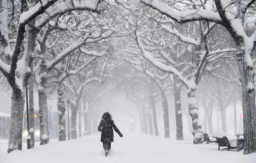
[[[202,124],[199,121],[198,107],[196,105],[196,89],[190,88],[188,93],[189,98],[189,115],[192,119],[192,134],[194,135],[194,144],[202,144]]]

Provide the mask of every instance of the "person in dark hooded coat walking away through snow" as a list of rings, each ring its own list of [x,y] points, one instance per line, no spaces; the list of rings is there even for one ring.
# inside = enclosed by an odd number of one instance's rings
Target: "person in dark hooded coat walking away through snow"
[[[111,114],[108,112],[105,112],[103,116],[101,117],[101,122],[98,126],[98,131],[101,132],[101,142],[103,144],[103,148],[105,150],[105,156],[109,155],[110,149],[111,149],[111,143],[114,142],[114,132],[117,132],[117,134],[122,138],[123,134],[119,131],[117,126],[115,126],[114,121],[112,120]]]

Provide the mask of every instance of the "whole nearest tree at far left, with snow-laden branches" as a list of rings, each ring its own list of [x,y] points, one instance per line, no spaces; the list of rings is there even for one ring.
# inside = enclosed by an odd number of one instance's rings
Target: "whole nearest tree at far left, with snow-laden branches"
[[[22,149],[24,86],[31,75],[29,67],[34,59],[34,39],[38,28],[40,29],[36,20],[42,20],[43,17],[52,19],[51,17],[56,16],[54,15],[56,12],[62,14],[70,10],[97,11],[98,7],[98,2],[84,0],[65,0],[65,2],[58,0],[24,0],[15,1],[15,3],[8,0],[1,1],[0,38],[3,57],[0,60],[0,71],[6,76],[10,87],[12,87],[12,120],[8,153],[16,149]],[[15,11],[9,12],[9,9]],[[14,17],[19,17],[18,21],[14,22]],[[47,22],[44,21],[44,23]],[[34,27],[36,27],[36,30],[34,30]],[[11,32],[14,32],[12,33],[15,35],[14,40],[10,39]]]

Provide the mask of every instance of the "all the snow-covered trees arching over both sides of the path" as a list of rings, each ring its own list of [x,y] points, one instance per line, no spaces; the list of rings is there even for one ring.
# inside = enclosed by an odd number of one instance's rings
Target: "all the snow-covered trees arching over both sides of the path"
[[[165,137],[170,137],[168,97],[172,93],[176,139],[184,139],[181,90],[186,87],[194,144],[203,142],[197,103],[205,109],[218,103],[226,132],[226,106],[233,92],[242,86],[244,154],[256,152],[256,130],[250,130],[256,127],[251,118],[256,114],[252,62],[256,37],[250,26],[253,5],[254,1],[243,0],[204,3],[192,0],[170,4],[160,0],[2,0],[0,71],[12,88],[8,153],[22,149],[25,86],[29,78],[34,79],[40,99],[40,144],[47,144],[50,90],[58,92],[59,140],[66,138],[67,97],[71,104],[71,138],[75,139],[81,98],[90,99],[90,108],[95,112],[89,113],[97,114],[97,105],[121,84],[116,81],[106,85],[104,80],[110,80],[111,72],[124,68],[125,63],[133,67],[136,80],[129,72],[124,80],[143,87],[140,91],[126,87],[125,94],[141,106],[141,117],[148,120],[150,134],[153,130],[156,136],[158,134],[154,103],[161,101]],[[240,76],[231,63],[234,58],[238,61]],[[221,65],[230,72],[220,72]],[[219,98],[222,92],[213,87],[214,84],[207,88],[200,86],[201,80],[213,82],[207,76],[236,83],[225,101]],[[196,100],[198,88],[202,95],[199,102]],[[211,95],[206,99],[208,91]],[[210,122],[211,112],[206,113]]]

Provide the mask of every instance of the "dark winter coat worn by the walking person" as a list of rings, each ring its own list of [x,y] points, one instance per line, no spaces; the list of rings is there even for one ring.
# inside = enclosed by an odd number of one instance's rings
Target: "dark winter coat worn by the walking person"
[[[101,120],[98,126],[98,131],[101,132],[101,142],[114,142],[113,129],[120,137],[123,137],[112,119],[108,118]]]

